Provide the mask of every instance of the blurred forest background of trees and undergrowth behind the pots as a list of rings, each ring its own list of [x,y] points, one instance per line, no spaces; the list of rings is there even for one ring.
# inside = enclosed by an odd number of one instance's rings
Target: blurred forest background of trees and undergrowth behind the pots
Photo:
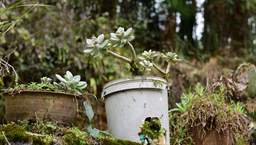
[[[1,2],[8,8],[19,1]],[[8,31],[0,39],[0,58],[17,48],[8,63],[20,84],[40,83],[45,76],[57,81],[55,74],[63,76],[67,70],[81,75],[88,83],[84,90],[98,97],[89,100],[97,113],[92,124],[100,130],[107,129],[100,99],[103,85],[130,73],[127,64],[112,56],[93,59],[84,54],[86,39],[92,36],[104,33],[109,39],[118,27],[132,27],[137,57],[150,49],[159,54],[176,52],[183,61],[171,67],[170,108],[195,83],[206,85],[207,78],[229,76],[243,62],[256,64],[255,0],[26,0],[22,4],[37,2],[52,7],[36,6]],[[0,21],[15,21],[31,7],[12,8],[0,15]],[[110,50],[131,58],[128,47]],[[159,74],[153,70],[151,75]],[[15,85],[15,76],[3,79],[1,89]],[[1,97],[0,120],[5,112]],[[84,124],[78,118],[75,125]]]

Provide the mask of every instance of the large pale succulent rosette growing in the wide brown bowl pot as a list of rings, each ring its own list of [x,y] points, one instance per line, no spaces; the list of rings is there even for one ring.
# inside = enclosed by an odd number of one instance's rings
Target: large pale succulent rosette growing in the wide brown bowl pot
[[[71,89],[84,89],[85,87],[87,87],[87,83],[84,81],[80,81],[81,77],[80,75],[77,75],[75,77],[73,77],[73,75],[67,71],[66,75],[64,76],[64,78],[62,78],[60,75],[56,75],[57,79],[59,79],[59,81],[61,81],[62,83],[67,84],[67,86],[71,87]],[[56,85],[56,84],[54,84]]]

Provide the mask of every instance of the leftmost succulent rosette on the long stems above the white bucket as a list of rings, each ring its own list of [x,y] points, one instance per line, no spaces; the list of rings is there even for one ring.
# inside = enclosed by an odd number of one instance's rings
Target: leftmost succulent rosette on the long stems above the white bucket
[[[103,34],[99,35],[99,37],[97,38],[93,36],[92,39],[86,39],[86,46],[89,49],[84,50],[84,53],[91,54],[92,56],[94,56],[93,58],[99,57],[100,52],[103,54],[107,54],[108,49],[106,47],[111,46],[111,44],[109,44],[109,40],[105,40],[103,42],[103,39]]]

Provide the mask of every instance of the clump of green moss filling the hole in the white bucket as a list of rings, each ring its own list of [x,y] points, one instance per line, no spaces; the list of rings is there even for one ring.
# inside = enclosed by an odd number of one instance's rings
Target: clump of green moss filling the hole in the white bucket
[[[148,135],[151,139],[158,139],[163,134],[163,128],[158,118],[151,118],[142,124],[141,132],[138,135]]]

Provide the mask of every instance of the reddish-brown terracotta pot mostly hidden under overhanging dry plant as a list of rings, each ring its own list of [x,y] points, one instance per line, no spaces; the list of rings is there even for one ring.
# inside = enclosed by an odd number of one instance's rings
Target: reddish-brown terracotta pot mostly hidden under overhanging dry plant
[[[225,134],[215,129],[207,132],[204,137],[202,137],[203,130],[201,126],[195,129],[195,133],[192,138],[194,139],[195,145],[232,145],[232,139],[229,132]]]

